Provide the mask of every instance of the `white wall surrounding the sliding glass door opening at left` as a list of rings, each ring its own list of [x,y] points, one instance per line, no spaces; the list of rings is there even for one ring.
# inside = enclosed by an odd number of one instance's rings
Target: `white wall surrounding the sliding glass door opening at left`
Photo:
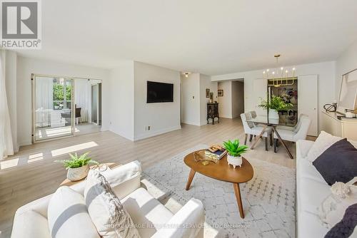
[[[19,145],[31,144],[31,73],[96,78],[102,83],[102,130],[109,129],[109,70],[69,63],[17,57],[17,139]]]

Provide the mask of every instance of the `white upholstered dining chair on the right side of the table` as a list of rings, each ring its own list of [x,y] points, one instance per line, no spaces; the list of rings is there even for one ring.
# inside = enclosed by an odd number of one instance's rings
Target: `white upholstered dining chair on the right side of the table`
[[[281,140],[286,140],[286,141],[291,141],[293,143],[296,143],[298,140],[306,140],[306,136],[308,135],[308,128],[310,127],[311,119],[308,118],[308,115],[300,115],[300,118],[298,119],[298,123],[296,124],[296,127],[283,127],[283,126],[278,126],[276,127],[276,130],[278,131]],[[274,137],[274,152],[277,150],[278,146],[278,136],[276,133],[273,133]]]

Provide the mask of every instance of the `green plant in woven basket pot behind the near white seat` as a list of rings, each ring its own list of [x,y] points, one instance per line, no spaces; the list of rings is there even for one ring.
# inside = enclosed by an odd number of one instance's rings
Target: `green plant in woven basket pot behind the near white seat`
[[[84,153],[81,156],[78,156],[77,153],[71,156],[70,160],[55,160],[54,162],[61,162],[66,167],[67,178],[71,181],[81,180],[88,175],[89,164],[98,165],[99,162],[92,160],[91,157],[88,157],[89,152]]]

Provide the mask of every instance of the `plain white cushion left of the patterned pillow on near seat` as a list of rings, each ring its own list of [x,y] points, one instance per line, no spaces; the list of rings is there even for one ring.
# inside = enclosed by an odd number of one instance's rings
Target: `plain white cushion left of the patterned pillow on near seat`
[[[70,187],[59,187],[52,195],[47,217],[53,238],[100,238],[87,212],[83,195]]]

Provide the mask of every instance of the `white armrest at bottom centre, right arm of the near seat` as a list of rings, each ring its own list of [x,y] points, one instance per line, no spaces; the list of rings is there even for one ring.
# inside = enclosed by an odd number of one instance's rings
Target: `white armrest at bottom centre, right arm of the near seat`
[[[164,224],[153,237],[162,238],[193,238],[203,237],[204,224],[203,204],[200,200],[191,198],[186,205]]]

